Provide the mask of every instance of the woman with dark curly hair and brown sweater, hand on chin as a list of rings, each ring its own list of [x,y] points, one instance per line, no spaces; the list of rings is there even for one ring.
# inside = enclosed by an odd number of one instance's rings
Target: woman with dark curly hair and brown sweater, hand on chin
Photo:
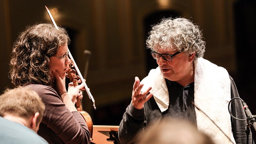
[[[39,135],[50,144],[89,144],[88,126],[75,107],[84,85],[71,82],[68,90],[65,86],[69,43],[63,27],[49,23],[27,27],[14,43],[9,76],[15,86],[35,90],[45,103]]]

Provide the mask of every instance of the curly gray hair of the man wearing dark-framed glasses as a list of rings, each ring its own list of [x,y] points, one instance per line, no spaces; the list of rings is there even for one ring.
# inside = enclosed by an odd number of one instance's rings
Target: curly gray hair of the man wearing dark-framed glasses
[[[185,54],[196,53],[195,59],[204,56],[206,42],[199,26],[186,18],[163,18],[149,32],[146,46],[151,50],[178,50]]]

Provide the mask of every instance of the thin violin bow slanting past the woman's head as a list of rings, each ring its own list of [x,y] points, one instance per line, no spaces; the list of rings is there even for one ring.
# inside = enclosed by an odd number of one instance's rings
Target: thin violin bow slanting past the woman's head
[[[50,10],[47,8],[46,5],[45,5],[45,7],[46,7],[46,10],[47,10],[47,13],[49,14],[49,17],[50,17],[51,22],[54,24],[55,28],[56,28],[57,30],[59,30],[57,24],[55,23],[55,20],[53,19],[52,15],[50,14]],[[68,50],[69,50],[69,48],[68,48]],[[92,94],[91,94],[91,92],[90,92],[90,89],[88,88],[87,84],[85,83],[85,80],[83,79],[82,74],[81,74],[81,72],[79,71],[78,66],[77,66],[76,62],[74,61],[74,58],[73,58],[73,56],[72,56],[72,54],[71,54],[70,52],[69,52],[69,58],[73,60],[73,64],[74,64],[75,70],[76,70],[76,72],[78,73],[78,76],[80,77],[80,80],[81,80],[82,83],[84,84],[85,91],[86,91],[86,93],[87,93],[89,99],[91,99],[91,101],[92,101],[92,103],[93,103],[93,108],[96,109],[95,100],[94,100],[94,98],[93,98],[93,96],[92,96]]]

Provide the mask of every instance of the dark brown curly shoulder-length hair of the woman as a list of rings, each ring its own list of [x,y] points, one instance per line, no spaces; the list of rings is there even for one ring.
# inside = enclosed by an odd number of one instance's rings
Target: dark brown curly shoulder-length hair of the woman
[[[63,27],[39,23],[28,26],[19,34],[13,45],[10,58],[9,77],[15,86],[41,84],[52,86],[49,70],[50,58],[59,46],[70,43]]]

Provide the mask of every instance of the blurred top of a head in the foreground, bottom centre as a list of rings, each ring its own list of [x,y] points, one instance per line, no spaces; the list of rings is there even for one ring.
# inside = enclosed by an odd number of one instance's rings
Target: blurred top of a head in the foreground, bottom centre
[[[192,123],[171,118],[151,124],[137,139],[136,144],[215,144]]]

